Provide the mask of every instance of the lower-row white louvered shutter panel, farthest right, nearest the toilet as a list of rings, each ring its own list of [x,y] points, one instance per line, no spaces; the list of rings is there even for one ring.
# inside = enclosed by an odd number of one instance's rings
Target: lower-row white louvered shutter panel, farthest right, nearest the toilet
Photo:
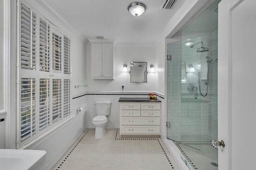
[[[63,117],[70,115],[70,80],[64,80]]]

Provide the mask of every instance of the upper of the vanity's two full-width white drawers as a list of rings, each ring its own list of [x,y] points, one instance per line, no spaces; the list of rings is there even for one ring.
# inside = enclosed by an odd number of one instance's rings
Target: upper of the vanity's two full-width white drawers
[[[121,117],[121,125],[160,125],[160,117]]]

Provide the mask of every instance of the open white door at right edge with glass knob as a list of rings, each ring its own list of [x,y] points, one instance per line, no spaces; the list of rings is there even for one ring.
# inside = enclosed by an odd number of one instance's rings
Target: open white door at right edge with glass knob
[[[256,0],[218,7],[219,170],[256,169]]]

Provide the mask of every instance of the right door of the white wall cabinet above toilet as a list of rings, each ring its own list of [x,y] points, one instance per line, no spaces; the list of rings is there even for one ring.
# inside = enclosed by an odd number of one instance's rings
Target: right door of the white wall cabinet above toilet
[[[113,44],[102,44],[102,77],[113,77]]]

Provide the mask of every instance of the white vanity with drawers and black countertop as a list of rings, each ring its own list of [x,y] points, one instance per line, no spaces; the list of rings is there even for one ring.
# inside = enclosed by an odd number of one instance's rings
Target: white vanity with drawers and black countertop
[[[160,136],[161,101],[120,98],[120,136]]]

